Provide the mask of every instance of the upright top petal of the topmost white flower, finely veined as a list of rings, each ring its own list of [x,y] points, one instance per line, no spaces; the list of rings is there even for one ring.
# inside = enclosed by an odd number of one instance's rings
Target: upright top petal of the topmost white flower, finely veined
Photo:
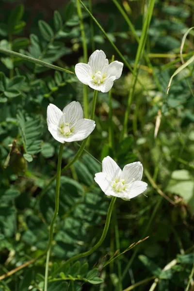
[[[106,64],[106,55],[103,52],[103,50],[95,50],[90,58],[89,58],[89,62],[88,65],[90,65],[93,73],[96,73],[97,71],[101,71],[103,69],[103,67]]]

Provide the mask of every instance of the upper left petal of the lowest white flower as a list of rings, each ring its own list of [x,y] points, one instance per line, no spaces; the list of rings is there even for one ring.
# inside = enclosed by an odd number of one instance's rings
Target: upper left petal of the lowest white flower
[[[102,160],[102,172],[107,174],[107,177],[112,181],[121,175],[121,169],[109,156]]]

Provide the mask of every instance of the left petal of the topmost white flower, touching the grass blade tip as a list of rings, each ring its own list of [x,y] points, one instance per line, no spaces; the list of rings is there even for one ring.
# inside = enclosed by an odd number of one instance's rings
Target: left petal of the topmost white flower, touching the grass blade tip
[[[75,66],[75,73],[78,79],[85,85],[88,85],[88,82],[92,80],[92,70],[90,65],[79,63]]]

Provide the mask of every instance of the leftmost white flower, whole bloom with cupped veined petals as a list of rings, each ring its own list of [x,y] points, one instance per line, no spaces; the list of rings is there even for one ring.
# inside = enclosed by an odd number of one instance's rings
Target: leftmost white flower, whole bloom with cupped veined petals
[[[95,121],[83,118],[79,102],[65,106],[63,112],[54,104],[47,108],[47,124],[52,136],[60,143],[82,141],[94,129]]]

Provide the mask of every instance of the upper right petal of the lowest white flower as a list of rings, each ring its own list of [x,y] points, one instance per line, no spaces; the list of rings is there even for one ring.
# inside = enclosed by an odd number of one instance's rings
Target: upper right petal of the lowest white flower
[[[127,164],[122,171],[121,179],[125,180],[125,183],[131,183],[136,180],[139,181],[142,179],[143,175],[143,166],[141,162],[132,162]]]

